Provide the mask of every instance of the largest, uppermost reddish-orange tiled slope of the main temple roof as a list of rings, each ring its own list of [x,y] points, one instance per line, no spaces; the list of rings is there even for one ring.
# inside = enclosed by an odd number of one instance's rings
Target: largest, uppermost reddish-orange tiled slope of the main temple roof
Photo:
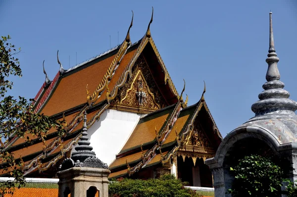
[[[79,72],[71,73],[72,71],[70,71],[71,74],[64,74],[65,76],[60,79],[40,113],[54,115],[86,103],[86,86],[88,85],[90,93],[96,90],[114,57],[115,54],[79,70]]]

